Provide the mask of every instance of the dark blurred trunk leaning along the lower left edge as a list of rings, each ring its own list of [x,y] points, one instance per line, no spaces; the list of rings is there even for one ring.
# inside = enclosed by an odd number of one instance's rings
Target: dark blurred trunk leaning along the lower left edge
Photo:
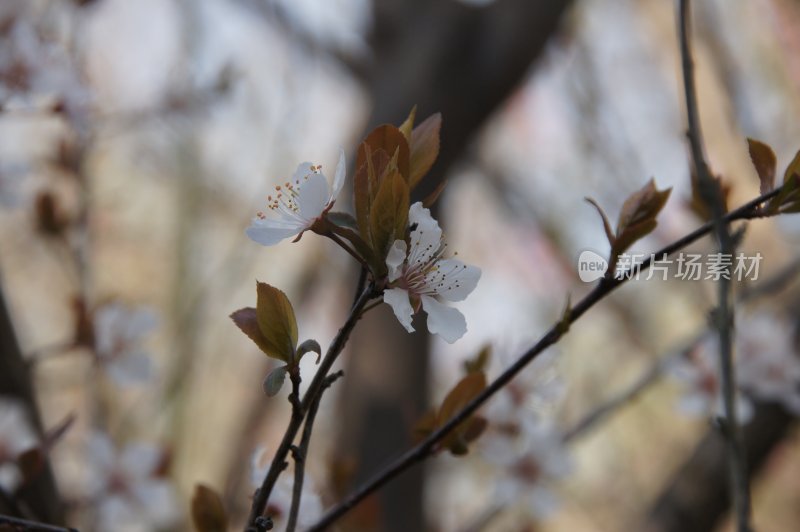
[[[0,286],[0,396],[12,397],[27,407],[31,424],[43,435],[43,427],[28,365],[22,357],[11,314],[6,306]],[[34,518],[47,523],[61,524],[63,509],[59,501],[50,461],[45,460],[41,473],[27,486],[20,489],[21,508],[8,507],[0,500],[0,513],[21,513],[19,517]],[[20,510],[20,511],[16,511]],[[30,514],[28,514],[30,512]]]

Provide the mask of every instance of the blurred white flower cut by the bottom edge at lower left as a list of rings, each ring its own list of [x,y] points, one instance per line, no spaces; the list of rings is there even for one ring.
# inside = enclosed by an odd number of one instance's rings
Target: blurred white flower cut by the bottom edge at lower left
[[[158,476],[161,449],[135,443],[118,452],[106,434],[95,432],[88,451],[89,497],[97,509],[97,530],[149,532],[176,523],[180,505],[175,490]]]

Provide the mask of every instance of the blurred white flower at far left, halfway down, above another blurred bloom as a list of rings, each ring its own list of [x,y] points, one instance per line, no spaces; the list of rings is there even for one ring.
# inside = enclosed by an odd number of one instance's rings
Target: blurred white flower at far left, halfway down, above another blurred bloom
[[[103,305],[95,312],[98,361],[120,386],[141,384],[152,376],[150,357],[141,343],[157,323],[156,315],[149,309],[119,302]]]

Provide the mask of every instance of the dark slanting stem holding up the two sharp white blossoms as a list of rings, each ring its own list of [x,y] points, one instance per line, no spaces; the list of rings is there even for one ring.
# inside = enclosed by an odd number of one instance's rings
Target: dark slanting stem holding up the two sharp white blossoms
[[[344,349],[344,346],[350,337],[350,333],[353,331],[353,328],[361,317],[364,307],[370,301],[370,299],[375,297],[375,295],[375,290],[372,285],[366,287],[364,291],[361,292],[361,295],[353,305],[353,308],[350,309],[350,315],[347,317],[347,321],[345,321],[344,325],[342,325],[342,328],[339,329],[338,333],[336,333],[333,342],[331,342],[327,353],[325,353],[325,357],[322,359],[322,362],[317,369],[317,373],[314,375],[314,378],[312,379],[311,384],[309,385],[308,390],[306,391],[305,395],[303,396],[303,400],[300,403],[300,415],[293,415],[289,420],[289,426],[286,428],[286,432],[284,433],[283,439],[278,446],[278,450],[272,459],[269,470],[264,476],[264,481],[261,483],[261,487],[256,490],[255,496],[253,497],[253,506],[250,510],[250,518],[248,519],[249,525],[254,525],[256,518],[258,518],[264,512],[264,508],[267,506],[267,501],[269,500],[269,495],[272,492],[272,488],[275,486],[275,482],[278,480],[278,476],[281,474],[281,471],[286,468],[286,456],[291,449],[292,442],[294,441],[297,432],[300,430],[300,426],[303,423],[303,418],[309,411],[315,398],[321,394],[325,384],[325,378],[328,376],[331,366],[333,366],[333,363],[336,362],[336,359],[339,357],[342,349]]]

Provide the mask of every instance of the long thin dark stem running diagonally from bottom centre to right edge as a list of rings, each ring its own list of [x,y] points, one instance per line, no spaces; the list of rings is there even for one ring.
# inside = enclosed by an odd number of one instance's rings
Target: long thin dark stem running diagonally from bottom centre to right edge
[[[750,220],[753,218],[769,216],[768,214],[765,214],[759,207],[765,201],[777,196],[779,193],[780,189],[776,189],[763,194],[746,203],[745,205],[742,205],[738,209],[731,211],[723,217],[723,220],[727,223],[730,223],[736,220]],[[672,255],[676,251],[683,249],[701,237],[709,234],[713,228],[714,225],[710,222],[699,227],[684,237],[665,246],[656,253],[653,253],[650,257],[642,261],[641,265],[636,267],[639,269],[639,271],[647,270],[652,264],[653,257]],[[608,296],[620,285],[625,284],[632,277],[633,276],[631,275],[622,275],[620,277],[605,277],[601,279],[591,292],[589,292],[566,313],[566,320],[562,318],[554,323],[547,333],[545,333],[545,335],[535,345],[523,353],[516,360],[516,362],[514,362],[514,364],[507,368],[494,381],[492,381],[480,394],[475,396],[472,401],[464,406],[464,408],[455,413],[453,417],[447,420],[447,422],[445,422],[438,429],[431,432],[424,440],[400,455],[386,468],[379,471],[365,484],[356,489],[355,492],[350,494],[350,496],[348,496],[345,500],[328,510],[328,512],[308,530],[326,530],[345,513],[355,507],[356,504],[361,502],[365,497],[380,489],[384,484],[394,479],[406,469],[409,469],[411,466],[421,462],[431,455],[436,447],[436,444],[442,441],[450,433],[450,431],[474,414],[475,411],[477,411],[478,408],[480,408],[490,397],[500,391],[545,349],[555,344],[569,329],[569,327],[565,327],[565,325],[571,325],[575,323],[587,310]]]

